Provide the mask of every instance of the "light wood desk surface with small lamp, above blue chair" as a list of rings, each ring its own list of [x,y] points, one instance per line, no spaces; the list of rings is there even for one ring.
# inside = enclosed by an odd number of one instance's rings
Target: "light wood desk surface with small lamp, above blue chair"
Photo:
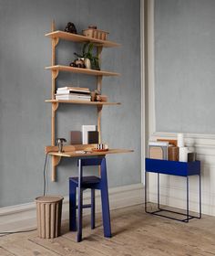
[[[109,154],[120,154],[120,153],[131,153],[134,152],[134,150],[129,149],[108,149],[105,152],[93,152],[93,151],[87,151],[87,153],[84,153],[82,150],[77,151],[67,151],[64,153],[58,153],[58,152],[48,152],[48,155],[56,155],[56,156],[64,156],[64,157],[80,157],[80,156],[96,156],[96,155],[109,155]]]

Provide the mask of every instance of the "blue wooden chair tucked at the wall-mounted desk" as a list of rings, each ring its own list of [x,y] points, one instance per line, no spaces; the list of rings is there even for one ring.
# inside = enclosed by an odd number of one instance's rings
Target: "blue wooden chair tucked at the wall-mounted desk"
[[[77,231],[77,241],[82,240],[83,208],[91,208],[91,229],[95,229],[95,189],[101,191],[104,236],[111,237],[106,158],[78,159],[78,176],[69,178],[69,229]],[[101,176],[83,176],[83,166],[100,165]],[[91,204],[83,205],[83,191],[91,189]],[[78,194],[78,202],[77,202]]]

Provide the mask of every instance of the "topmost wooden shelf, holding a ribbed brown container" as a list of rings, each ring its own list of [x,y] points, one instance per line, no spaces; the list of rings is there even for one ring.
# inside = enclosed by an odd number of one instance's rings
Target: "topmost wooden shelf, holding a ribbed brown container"
[[[120,44],[114,43],[114,42],[111,42],[111,41],[100,40],[100,39],[95,39],[95,38],[91,38],[91,37],[85,37],[85,36],[82,36],[82,35],[67,33],[67,32],[60,31],[60,30],[47,33],[45,36],[46,37],[51,37],[51,38],[60,38],[60,39],[73,41],[73,42],[77,42],[77,43],[92,42],[96,46],[104,47],[104,48],[113,48],[113,47],[119,47],[120,46]]]

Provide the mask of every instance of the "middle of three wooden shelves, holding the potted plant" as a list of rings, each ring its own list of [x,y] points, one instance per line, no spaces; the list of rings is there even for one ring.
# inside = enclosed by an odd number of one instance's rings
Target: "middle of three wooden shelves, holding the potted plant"
[[[80,69],[80,68],[73,68],[70,66],[63,66],[63,65],[55,65],[46,67],[46,69],[56,70],[56,71],[68,71],[73,73],[80,73],[80,74],[87,74],[92,76],[119,76],[119,73],[115,72],[108,72],[104,70],[95,70],[95,69]]]

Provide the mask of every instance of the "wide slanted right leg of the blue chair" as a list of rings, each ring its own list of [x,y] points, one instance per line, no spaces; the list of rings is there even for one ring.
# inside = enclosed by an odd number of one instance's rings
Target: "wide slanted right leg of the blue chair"
[[[110,213],[109,213],[109,198],[107,189],[107,169],[106,159],[101,163],[101,203],[102,203],[102,219],[104,227],[104,236],[111,238]]]

